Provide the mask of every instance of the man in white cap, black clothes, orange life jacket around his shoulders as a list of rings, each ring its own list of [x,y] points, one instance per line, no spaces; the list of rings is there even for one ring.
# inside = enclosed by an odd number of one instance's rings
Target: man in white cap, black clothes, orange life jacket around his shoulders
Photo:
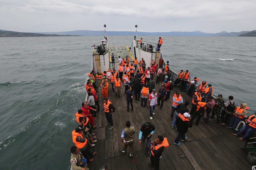
[[[183,115],[178,114],[178,119],[176,121],[177,131],[179,132],[176,139],[174,140],[174,144],[180,145],[179,140],[184,141],[187,139],[185,133],[187,133],[188,128],[193,126],[193,120],[190,118],[190,114],[185,112]]]

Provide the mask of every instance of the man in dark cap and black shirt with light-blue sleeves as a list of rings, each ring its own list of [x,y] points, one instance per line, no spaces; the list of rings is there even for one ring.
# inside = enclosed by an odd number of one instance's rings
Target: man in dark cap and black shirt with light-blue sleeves
[[[141,143],[145,143],[145,141],[147,139],[147,144],[146,144],[146,148],[145,148],[146,156],[149,155],[148,150],[150,147],[151,136],[153,135],[155,130],[156,130],[155,126],[153,124],[151,124],[151,122],[144,123],[140,128],[139,145],[141,145]]]

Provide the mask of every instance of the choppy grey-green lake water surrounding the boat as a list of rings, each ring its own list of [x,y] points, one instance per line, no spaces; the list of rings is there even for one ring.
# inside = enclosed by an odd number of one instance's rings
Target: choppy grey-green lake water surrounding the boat
[[[132,36],[107,36],[131,46]],[[140,37],[138,37],[140,38]],[[214,94],[255,113],[255,37],[162,37],[176,72],[211,83]],[[75,113],[86,96],[91,46],[103,37],[0,38],[0,169],[70,169]],[[143,41],[157,43],[157,36]],[[120,132],[121,133],[121,132]]]

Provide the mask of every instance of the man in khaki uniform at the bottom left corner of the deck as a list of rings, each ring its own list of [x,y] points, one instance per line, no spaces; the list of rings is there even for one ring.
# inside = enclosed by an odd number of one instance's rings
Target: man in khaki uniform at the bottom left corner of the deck
[[[76,146],[72,146],[71,149],[71,157],[70,157],[70,163],[72,166],[73,170],[89,170],[89,168],[87,167],[87,163],[86,166],[83,166],[83,161],[82,158],[83,154],[80,152],[79,148]]]

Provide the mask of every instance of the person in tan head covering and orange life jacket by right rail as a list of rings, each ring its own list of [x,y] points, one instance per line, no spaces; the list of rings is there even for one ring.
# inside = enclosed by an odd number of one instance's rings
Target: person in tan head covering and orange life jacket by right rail
[[[240,106],[236,108],[236,110],[232,114],[232,119],[229,124],[230,130],[233,131],[236,129],[238,122],[244,119],[244,116],[247,114],[249,107],[247,107],[247,103],[242,103]]]

